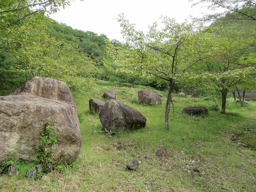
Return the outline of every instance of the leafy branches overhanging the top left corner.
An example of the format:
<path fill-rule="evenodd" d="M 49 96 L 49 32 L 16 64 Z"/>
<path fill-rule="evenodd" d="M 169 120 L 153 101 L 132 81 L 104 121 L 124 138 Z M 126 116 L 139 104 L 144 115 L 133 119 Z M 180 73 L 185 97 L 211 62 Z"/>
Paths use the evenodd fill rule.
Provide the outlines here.
<path fill-rule="evenodd" d="M 45 14 L 69 5 L 69 0 L 1 0 L 0 2 L 0 52 L 18 49 Z"/>

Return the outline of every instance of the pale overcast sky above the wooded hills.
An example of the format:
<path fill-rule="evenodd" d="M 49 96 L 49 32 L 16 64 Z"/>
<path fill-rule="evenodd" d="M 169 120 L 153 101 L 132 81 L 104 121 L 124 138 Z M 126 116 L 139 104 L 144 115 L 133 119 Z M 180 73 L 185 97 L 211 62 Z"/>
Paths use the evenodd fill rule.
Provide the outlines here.
<path fill-rule="evenodd" d="M 50 18 L 74 29 L 103 33 L 124 42 L 116 19 L 118 14 L 124 13 L 137 30 L 147 32 L 148 25 L 158 21 L 161 15 L 183 22 L 189 15 L 202 17 L 202 12 L 208 12 L 201 6 L 191 8 L 191 4 L 188 0 L 75 0 Z"/>

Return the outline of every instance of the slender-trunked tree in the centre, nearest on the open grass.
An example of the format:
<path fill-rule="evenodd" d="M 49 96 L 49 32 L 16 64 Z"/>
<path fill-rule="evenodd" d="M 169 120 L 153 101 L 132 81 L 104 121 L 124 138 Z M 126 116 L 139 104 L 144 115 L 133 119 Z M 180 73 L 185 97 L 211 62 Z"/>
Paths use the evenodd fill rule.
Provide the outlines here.
<path fill-rule="evenodd" d="M 157 23 L 149 28 L 148 34 L 136 31 L 134 24 L 119 15 L 121 33 L 126 42 L 138 54 L 138 69 L 144 77 L 155 79 L 159 83 L 169 83 L 168 96 L 165 106 L 165 127 L 169 129 L 170 103 L 174 114 L 174 103 L 172 100 L 173 84 L 200 60 L 210 57 L 210 51 L 201 46 L 206 39 L 202 36 L 201 26 L 197 23 L 177 23 L 174 19 L 162 17 L 164 25 L 158 30 Z"/>

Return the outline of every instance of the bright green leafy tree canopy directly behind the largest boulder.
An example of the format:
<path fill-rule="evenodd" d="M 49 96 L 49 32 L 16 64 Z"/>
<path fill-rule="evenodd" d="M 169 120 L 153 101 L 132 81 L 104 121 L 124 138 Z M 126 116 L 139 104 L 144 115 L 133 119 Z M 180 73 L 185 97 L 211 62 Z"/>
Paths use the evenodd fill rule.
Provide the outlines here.
<path fill-rule="evenodd" d="M 76 44 L 67 44 L 49 37 L 43 23 L 31 29 L 32 35 L 23 47 L 12 52 L 26 78 L 43 76 L 64 81 L 68 86 L 86 86 L 96 71 L 94 62 L 79 52 Z"/>

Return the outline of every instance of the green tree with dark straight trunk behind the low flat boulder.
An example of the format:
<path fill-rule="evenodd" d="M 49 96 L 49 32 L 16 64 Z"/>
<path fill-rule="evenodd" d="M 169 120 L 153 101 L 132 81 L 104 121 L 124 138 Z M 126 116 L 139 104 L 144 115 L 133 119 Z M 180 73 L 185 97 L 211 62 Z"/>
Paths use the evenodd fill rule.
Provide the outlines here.
<path fill-rule="evenodd" d="M 234 29 L 223 26 L 215 33 L 206 33 L 211 41 L 205 46 L 213 50 L 212 57 L 202 61 L 200 68 L 193 68 L 187 76 L 184 75 L 187 83 L 193 82 L 193 78 L 198 78 L 198 85 L 214 87 L 221 92 L 221 113 L 226 113 L 228 91 L 236 89 L 239 84 L 246 82 L 246 76 L 255 73 L 255 54 L 247 52 L 246 43 L 226 35 L 230 33 L 229 30 Z M 193 71 L 197 71 L 197 75 Z"/>

